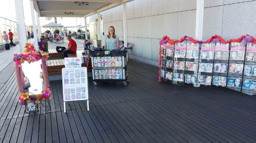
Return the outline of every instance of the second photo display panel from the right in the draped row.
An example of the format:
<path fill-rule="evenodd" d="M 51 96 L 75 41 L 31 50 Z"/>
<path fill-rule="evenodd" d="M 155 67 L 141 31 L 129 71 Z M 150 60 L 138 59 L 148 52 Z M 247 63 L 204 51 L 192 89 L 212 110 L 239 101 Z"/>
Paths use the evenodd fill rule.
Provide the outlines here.
<path fill-rule="evenodd" d="M 227 73 L 227 88 L 241 92 L 245 45 L 239 42 L 230 43 L 230 58 Z"/>

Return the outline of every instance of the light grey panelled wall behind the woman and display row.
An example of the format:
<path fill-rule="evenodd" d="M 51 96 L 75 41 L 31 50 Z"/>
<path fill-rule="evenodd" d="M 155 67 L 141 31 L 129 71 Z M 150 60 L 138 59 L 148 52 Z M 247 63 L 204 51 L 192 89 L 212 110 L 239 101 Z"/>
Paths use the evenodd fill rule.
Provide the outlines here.
<path fill-rule="evenodd" d="M 196 0 L 134 0 L 127 3 L 128 43 L 133 55 L 158 61 L 159 40 L 168 35 L 172 39 L 195 37 Z M 256 37 L 256 0 L 204 0 L 203 40 L 214 34 L 225 40 L 244 34 Z M 122 6 L 101 13 L 103 31 L 114 26 L 123 40 Z M 95 21 L 97 14 L 90 17 Z M 92 22 L 92 21 L 90 21 Z"/>

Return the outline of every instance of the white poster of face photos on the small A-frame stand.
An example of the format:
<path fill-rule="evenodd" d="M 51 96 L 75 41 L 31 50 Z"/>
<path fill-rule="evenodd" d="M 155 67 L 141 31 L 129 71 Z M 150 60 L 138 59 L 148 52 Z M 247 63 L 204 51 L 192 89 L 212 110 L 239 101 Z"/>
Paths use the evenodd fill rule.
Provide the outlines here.
<path fill-rule="evenodd" d="M 63 100 L 88 100 L 87 68 L 62 69 Z"/>

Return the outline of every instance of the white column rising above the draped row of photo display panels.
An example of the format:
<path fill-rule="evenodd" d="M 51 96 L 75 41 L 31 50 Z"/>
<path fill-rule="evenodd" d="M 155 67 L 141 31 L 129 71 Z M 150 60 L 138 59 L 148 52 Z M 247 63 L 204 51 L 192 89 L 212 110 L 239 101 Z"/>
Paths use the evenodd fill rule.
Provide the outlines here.
<path fill-rule="evenodd" d="M 196 1 L 195 39 L 203 40 L 204 0 Z"/>

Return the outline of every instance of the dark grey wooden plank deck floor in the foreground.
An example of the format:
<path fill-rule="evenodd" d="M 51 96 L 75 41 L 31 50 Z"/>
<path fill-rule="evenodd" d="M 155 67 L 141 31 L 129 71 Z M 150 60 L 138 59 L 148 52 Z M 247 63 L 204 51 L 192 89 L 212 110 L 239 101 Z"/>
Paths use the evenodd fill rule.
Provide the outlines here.
<path fill-rule="evenodd" d="M 256 143 L 256 98 L 239 92 L 158 83 L 158 69 L 128 61 L 130 83 L 89 79 L 86 101 L 67 103 L 51 82 L 50 113 L 24 114 L 15 74 L 0 89 L 3 143 Z"/>

